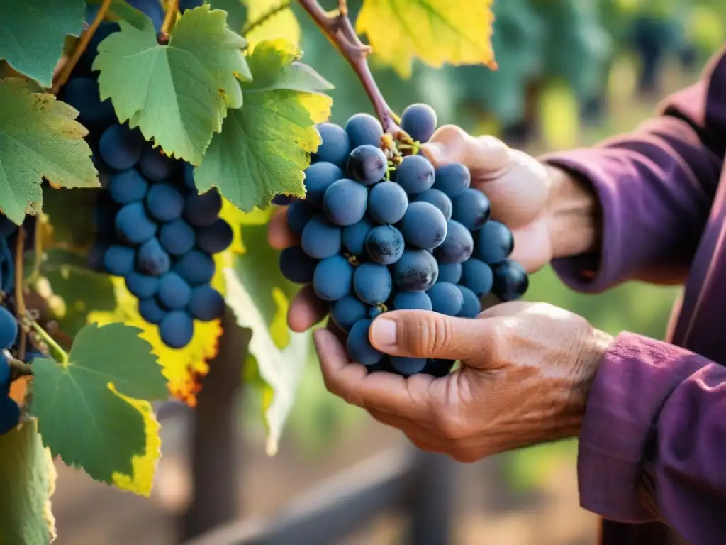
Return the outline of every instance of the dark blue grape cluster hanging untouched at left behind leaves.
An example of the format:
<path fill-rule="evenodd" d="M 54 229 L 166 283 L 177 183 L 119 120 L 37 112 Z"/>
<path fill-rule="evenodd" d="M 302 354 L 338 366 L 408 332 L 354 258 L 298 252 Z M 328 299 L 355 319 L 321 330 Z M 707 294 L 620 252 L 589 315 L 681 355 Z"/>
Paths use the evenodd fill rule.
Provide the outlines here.
<path fill-rule="evenodd" d="M 219 192 L 196 190 L 192 165 L 119 124 L 110 100 L 100 100 L 91 65 L 99 41 L 117 30 L 116 23 L 100 25 L 61 92 L 89 129 L 104 187 L 94 211 L 98 238 L 89 266 L 123 277 L 142 318 L 158 325 L 168 347 L 182 348 L 192 339 L 194 320 L 224 313 L 224 299 L 210 285 L 212 256 L 232 243 L 232 227 L 219 217 Z"/>

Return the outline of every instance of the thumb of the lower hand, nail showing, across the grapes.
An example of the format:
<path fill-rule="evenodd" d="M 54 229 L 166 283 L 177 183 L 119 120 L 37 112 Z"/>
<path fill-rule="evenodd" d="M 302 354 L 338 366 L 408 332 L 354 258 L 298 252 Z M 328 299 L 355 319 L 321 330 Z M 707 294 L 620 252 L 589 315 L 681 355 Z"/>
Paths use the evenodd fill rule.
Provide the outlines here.
<path fill-rule="evenodd" d="M 489 320 L 428 310 L 394 310 L 373 320 L 368 337 L 380 352 L 409 358 L 467 360 L 489 345 Z"/>

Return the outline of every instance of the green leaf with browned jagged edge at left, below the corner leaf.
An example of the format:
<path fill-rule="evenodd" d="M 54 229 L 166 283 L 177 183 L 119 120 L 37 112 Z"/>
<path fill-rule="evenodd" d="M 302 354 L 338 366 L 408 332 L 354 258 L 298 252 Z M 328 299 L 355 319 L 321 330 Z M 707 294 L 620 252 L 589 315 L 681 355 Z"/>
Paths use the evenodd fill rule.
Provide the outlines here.
<path fill-rule="evenodd" d="M 41 210 L 43 177 L 62 187 L 100 186 L 77 115 L 52 94 L 0 81 L 0 210 L 17 225 Z"/>

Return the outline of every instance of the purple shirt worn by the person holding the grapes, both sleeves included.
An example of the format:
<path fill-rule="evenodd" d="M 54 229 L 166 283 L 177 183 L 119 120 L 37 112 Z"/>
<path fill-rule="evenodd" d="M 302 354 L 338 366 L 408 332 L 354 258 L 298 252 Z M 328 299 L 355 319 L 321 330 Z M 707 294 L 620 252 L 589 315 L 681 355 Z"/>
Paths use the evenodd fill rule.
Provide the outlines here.
<path fill-rule="evenodd" d="M 657 118 L 594 148 L 543 158 L 590 182 L 603 209 L 600 255 L 552 264 L 568 286 L 599 292 L 687 277 L 669 342 L 622 333 L 601 361 L 578 474 L 585 509 L 664 522 L 693 545 L 726 544 L 725 150 L 722 52 Z M 662 531 L 628 535 L 605 531 L 603 545 L 666 543 Z"/>

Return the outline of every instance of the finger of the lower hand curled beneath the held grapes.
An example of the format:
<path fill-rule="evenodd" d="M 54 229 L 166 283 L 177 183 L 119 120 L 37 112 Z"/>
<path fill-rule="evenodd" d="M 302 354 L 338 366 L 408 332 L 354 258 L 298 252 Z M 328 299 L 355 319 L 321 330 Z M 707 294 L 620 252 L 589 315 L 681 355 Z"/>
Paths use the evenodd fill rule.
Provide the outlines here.
<path fill-rule="evenodd" d="M 433 376 L 409 379 L 392 373 L 369 374 L 364 366 L 348 361 L 343 344 L 326 329 L 314 334 L 325 386 L 351 405 L 368 411 L 425 421 L 431 413 L 428 395 Z"/>

